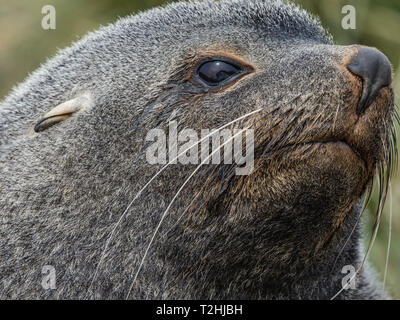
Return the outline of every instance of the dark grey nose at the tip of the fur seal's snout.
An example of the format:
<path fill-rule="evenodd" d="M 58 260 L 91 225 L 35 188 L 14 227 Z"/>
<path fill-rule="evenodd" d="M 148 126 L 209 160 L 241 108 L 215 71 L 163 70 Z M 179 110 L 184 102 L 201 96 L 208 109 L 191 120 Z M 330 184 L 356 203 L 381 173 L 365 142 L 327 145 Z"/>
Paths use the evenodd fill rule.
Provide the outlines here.
<path fill-rule="evenodd" d="M 390 62 L 382 52 L 361 47 L 347 65 L 347 69 L 362 79 L 363 90 L 358 102 L 357 113 L 363 114 L 379 91 L 392 83 Z"/>

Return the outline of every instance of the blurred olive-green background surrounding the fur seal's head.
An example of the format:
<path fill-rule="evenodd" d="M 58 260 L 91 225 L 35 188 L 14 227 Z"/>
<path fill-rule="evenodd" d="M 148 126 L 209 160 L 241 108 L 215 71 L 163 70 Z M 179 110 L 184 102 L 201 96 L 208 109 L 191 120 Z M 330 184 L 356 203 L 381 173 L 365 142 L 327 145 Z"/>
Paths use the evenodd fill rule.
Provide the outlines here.
<path fill-rule="evenodd" d="M 400 105 L 400 1 L 399 0 L 295 0 L 318 15 L 332 33 L 337 44 L 364 44 L 383 51 L 395 72 L 396 104 Z M 58 49 L 68 46 L 88 31 L 116 21 L 119 17 L 166 3 L 162 0 L 0 0 L 0 99 Z M 56 8 L 55 30 L 41 27 L 44 5 Z M 341 8 L 356 8 L 356 29 L 341 27 Z M 399 70 L 399 71 L 398 71 Z M 396 72 L 398 71 L 398 72 Z M 400 140 L 400 139 L 398 139 Z M 392 244 L 386 287 L 400 299 L 400 175 L 392 179 Z M 371 236 L 372 212 L 376 208 L 376 192 L 366 213 L 365 242 Z M 390 197 L 374 244 L 370 261 L 383 278 L 389 234 Z"/>

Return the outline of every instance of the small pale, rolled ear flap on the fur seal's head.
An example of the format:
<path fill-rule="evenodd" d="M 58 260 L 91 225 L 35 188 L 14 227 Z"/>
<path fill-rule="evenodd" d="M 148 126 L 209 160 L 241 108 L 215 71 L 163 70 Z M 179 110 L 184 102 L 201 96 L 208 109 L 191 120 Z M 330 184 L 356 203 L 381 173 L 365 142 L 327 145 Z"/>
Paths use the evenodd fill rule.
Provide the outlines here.
<path fill-rule="evenodd" d="M 92 104 L 90 94 L 85 93 L 74 99 L 68 100 L 57 105 L 46 113 L 38 122 L 36 122 L 33 130 L 40 132 L 47 128 L 59 123 L 63 120 L 70 118 L 74 113 L 89 107 Z"/>

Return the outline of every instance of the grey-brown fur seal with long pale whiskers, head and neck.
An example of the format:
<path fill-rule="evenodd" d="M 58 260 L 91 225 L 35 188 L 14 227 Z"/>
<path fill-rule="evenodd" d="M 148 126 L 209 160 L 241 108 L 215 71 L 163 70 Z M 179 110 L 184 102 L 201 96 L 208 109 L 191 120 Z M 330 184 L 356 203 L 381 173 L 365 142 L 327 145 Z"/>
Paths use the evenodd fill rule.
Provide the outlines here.
<path fill-rule="evenodd" d="M 363 261 L 376 172 L 384 200 L 391 77 L 281 1 L 180 2 L 89 34 L 0 104 L 0 297 L 388 297 L 367 265 L 348 290 L 341 271 Z M 149 164 L 146 134 L 171 121 L 252 128 L 254 170 Z"/>

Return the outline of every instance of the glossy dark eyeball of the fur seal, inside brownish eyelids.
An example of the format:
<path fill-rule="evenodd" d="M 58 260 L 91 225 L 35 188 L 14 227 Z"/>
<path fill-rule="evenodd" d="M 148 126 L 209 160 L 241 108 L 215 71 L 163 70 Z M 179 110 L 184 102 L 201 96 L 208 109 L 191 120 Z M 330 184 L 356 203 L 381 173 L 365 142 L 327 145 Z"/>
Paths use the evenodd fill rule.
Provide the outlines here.
<path fill-rule="evenodd" d="M 241 70 L 234 65 L 224 61 L 208 61 L 198 69 L 198 75 L 210 86 L 218 86 L 229 78 L 241 74 Z"/>

